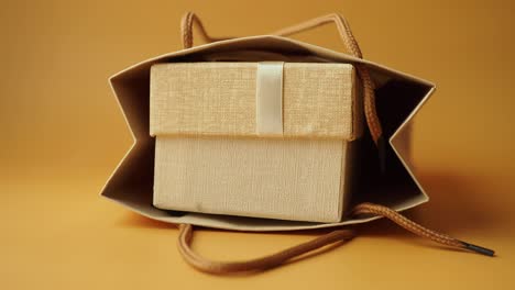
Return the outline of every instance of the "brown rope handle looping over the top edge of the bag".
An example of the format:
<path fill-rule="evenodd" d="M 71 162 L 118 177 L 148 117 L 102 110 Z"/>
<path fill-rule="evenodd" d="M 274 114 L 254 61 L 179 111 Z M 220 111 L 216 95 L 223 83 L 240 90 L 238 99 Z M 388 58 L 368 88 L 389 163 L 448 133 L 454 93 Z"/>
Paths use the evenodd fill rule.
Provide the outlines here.
<path fill-rule="evenodd" d="M 295 33 L 308 31 L 308 30 L 311 30 L 311 29 L 315 29 L 315 27 L 318 27 L 320 25 L 328 24 L 328 23 L 335 23 L 340 34 L 340 38 L 343 42 L 347 51 L 357 58 L 363 58 L 360 46 L 358 45 L 358 42 L 355 41 L 354 35 L 352 34 L 349 23 L 343 16 L 341 16 L 338 13 L 331 13 L 328 15 L 315 18 L 306 22 L 302 22 L 299 24 L 278 30 L 276 32 L 273 32 L 272 34 L 278 35 L 278 36 L 289 36 Z M 215 38 L 215 37 L 209 36 L 200 19 L 194 12 L 186 12 L 183 19 L 180 20 L 180 32 L 182 32 L 184 48 L 193 47 L 194 25 L 198 26 L 201 37 L 208 43 L 231 38 L 231 37 Z M 363 82 L 363 107 L 364 107 L 366 124 L 369 126 L 370 134 L 372 135 L 372 140 L 377 145 L 381 168 L 384 171 L 386 143 L 384 141 L 383 130 L 381 126 L 381 122 L 377 118 L 377 112 L 375 110 L 375 93 L 374 93 L 373 81 L 372 81 L 372 78 L 370 77 L 370 72 L 366 66 L 362 64 L 355 64 L 355 67 Z"/>

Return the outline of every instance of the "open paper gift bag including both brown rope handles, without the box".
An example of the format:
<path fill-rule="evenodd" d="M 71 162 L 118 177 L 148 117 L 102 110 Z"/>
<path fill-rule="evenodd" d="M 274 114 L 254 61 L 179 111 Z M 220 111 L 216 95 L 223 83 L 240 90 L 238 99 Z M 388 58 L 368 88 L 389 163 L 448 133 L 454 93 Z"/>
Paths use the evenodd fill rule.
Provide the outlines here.
<path fill-rule="evenodd" d="M 336 24 L 350 54 L 285 37 L 325 23 Z M 182 22 L 184 49 L 144 60 L 110 78 L 114 96 L 134 137 L 134 144 L 114 169 L 101 192 L 103 197 L 142 215 L 179 224 L 179 250 L 189 264 L 200 270 L 215 274 L 260 270 L 277 266 L 292 257 L 324 245 L 351 237 L 348 230 L 338 230 L 261 259 L 217 263 L 206 260 L 191 250 L 193 225 L 246 232 L 297 231 L 342 227 L 369 222 L 380 216 L 386 216 L 401 226 L 435 242 L 493 255 L 492 250 L 427 230 L 397 213 L 428 201 L 424 188 L 417 180 L 409 155 L 409 137 L 413 119 L 435 91 L 435 85 L 363 59 L 349 24 L 338 14 L 321 16 L 269 35 L 226 40 L 209 37 L 200 24 L 198 25 L 200 33 L 208 43 L 199 46 L 193 46 L 194 24 L 200 24 L 198 18 L 194 13 L 187 13 Z M 366 122 L 364 122 L 359 148 L 368 158 L 360 163 L 361 172 L 358 180 L 360 187 L 350 196 L 349 210 L 343 212 L 341 221 L 303 222 L 256 219 L 193 211 L 169 211 L 154 207 L 156 140 L 150 132 L 151 68 L 165 64 L 270 60 L 349 64 L 355 68 L 357 76 L 362 82 L 361 96 Z M 184 145 L 178 147 L 185 148 Z"/>

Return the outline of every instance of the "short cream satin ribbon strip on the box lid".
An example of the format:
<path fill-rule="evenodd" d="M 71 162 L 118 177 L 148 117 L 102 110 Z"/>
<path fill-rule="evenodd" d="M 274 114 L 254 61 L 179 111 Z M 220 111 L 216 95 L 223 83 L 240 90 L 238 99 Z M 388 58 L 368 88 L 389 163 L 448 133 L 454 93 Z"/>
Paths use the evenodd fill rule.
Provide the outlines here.
<path fill-rule="evenodd" d="M 283 62 L 258 63 L 255 131 L 258 135 L 283 135 Z"/>

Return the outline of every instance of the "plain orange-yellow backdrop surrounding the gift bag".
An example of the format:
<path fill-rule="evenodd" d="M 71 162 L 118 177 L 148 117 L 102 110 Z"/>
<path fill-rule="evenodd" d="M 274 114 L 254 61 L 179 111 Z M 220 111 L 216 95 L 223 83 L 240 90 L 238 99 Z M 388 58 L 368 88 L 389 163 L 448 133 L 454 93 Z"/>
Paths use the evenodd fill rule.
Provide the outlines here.
<path fill-rule="evenodd" d="M 513 289 L 514 9 L 512 1 L 3 1 L 0 288 Z M 435 81 L 414 140 L 431 201 L 408 215 L 498 256 L 445 250 L 379 221 L 322 255 L 215 277 L 183 263 L 173 225 L 101 199 L 132 142 L 107 78 L 178 49 L 187 10 L 212 35 L 264 34 L 340 12 L 366 58 Z M 342 48 L 330 26 L 299 38 Z M 320 233 L 201 230 L 195 247 L 248 258 Z"/>

